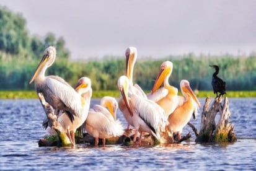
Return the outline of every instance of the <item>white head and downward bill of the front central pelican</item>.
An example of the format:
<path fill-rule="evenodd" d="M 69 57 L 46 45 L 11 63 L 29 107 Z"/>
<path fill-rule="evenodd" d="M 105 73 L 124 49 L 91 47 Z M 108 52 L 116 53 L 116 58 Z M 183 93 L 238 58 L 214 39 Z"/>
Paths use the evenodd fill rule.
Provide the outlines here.
<path fill-rule="evenodd" d="M 130 81 L 129 81 L 128 77 L 126 77 L 126 76 L 119 77 L 117 85 L 118 85 L 120 94 L 122 95 L 123 100 L 125 101 L 125 105 L 126 105 L 127 109 L 129 110 L 131 116 L 133 116 L 133 111 L 131 110 L 129 97 L 128 97 L 128 88 L 130 86 Z"/>

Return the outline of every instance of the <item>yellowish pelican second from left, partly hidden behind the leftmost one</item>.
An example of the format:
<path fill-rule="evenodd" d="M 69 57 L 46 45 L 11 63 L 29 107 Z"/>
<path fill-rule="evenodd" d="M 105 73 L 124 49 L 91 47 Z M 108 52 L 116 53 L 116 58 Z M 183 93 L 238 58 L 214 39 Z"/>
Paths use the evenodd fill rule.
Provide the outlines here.
<path fill-rule="evenodd" d="M 84 121 L 86 121 L 89 107 L 90 107 L 90 98 L 92 97 L 92 88 L 91 81 L 88 77 L 81 77 L 74 87 L 77 94 L 81 95 L 80 101 L 82 103 L 81 113 L 82 115 L 75 115 L 74 120 L 71 121 L 66 112 L 61 113 L 58 116 L 58 123 L 62 126 L 60 131 L 66 133 L 70 142 L 75 146 L 74 133 L 76 133 L 76 129 L 81 126 Z M 55 133 L 55 131 L 48 130 L 48 133 Z"/>

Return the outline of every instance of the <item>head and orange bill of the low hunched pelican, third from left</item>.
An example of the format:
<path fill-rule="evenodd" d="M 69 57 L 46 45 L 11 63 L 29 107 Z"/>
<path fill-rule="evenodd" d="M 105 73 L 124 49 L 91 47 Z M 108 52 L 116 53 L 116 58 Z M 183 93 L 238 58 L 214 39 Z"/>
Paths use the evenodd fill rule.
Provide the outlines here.
<path fill-rule="evenodd" d="M 116 120 L 118 103 L 117 103 L 117 100 L 115 100 L 115 98 L 110 96 L 105 96 L 100 100 L 100 105 L 103 107 L 107 107 L 109 112 L 113 116 L 114 120 Z"/>

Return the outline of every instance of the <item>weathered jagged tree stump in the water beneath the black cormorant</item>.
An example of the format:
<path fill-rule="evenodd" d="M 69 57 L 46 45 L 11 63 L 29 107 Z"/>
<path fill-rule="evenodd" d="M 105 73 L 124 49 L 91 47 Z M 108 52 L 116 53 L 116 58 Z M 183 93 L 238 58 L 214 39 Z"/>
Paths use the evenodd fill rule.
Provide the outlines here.
<path fill-rule="evenodd" d="M 196 136 L 197 143 L 231 143 L 236 141 L 234 125 L 229 123 L 229 101 L 222 97 L 214 99 L 209 108 L 210 98 L 206 98 L 203 112 L 201 114 L 200 132 Z M 215 117 L 219 113 L 219 121 L 215 123 Z"/>

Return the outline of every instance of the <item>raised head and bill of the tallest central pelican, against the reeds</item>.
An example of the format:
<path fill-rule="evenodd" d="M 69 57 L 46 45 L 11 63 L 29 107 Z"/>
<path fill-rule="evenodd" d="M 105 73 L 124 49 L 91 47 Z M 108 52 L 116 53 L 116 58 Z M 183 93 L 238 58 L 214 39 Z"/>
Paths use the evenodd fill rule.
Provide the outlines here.
<path fill-rule="evenodd" d="M 128 79 L 133 82 L 133 68 L 137 59 L 137 49 L 133 46 L 130 46 L 125 51 L 126 56 L 126 76 Z"/>

